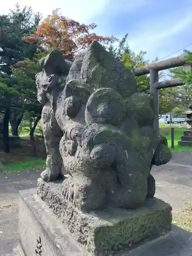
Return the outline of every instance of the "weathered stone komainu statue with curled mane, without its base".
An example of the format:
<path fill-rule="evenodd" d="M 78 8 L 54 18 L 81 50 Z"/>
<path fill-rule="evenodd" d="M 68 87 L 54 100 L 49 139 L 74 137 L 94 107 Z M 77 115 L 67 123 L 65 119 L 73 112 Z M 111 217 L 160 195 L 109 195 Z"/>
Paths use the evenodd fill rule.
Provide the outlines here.
<path fill-rule="evenodd" d="M 132 72 L 93 42 L 74 62 L 53 50 L 36 75 L 47 149 L 44 181 L 62 177 L 62 195 L 83 211 L 137 208 L 155 194 L 153 165 L 170 160 L 153 128 L 154 101 Z"/>

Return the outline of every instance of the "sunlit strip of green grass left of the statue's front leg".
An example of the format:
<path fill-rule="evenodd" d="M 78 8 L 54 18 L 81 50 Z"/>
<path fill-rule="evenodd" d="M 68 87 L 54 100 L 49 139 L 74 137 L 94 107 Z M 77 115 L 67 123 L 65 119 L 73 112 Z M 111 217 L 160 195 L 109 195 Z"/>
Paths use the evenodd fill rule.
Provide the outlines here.
<path fill-rule="evenodd" d="M 20 172 L 22 170 L 38 170 L 45 167 L 45 160 L 30 158 L 29 160 L 11 162 L 5 165 L 5 169 L 2 172 L 13 173 Z"/>

